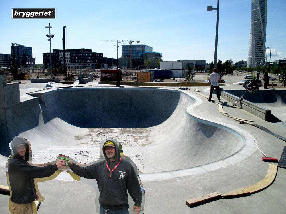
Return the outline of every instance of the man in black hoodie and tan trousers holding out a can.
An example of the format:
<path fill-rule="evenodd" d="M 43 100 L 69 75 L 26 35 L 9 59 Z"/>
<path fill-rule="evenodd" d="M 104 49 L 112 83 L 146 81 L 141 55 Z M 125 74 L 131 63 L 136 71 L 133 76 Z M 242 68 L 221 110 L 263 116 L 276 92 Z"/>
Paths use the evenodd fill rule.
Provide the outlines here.
<path fill-rule="evenodd" d="M 16 136 L 12 142 L 13 158 L 9 162 L 8 175 L 12 195 L 12 213 L 32 214 L 33 203 L 39 199 L 36 192 L 34 178 L 49 177 L 60 167 L 65 166 L 65 161 L 60 160 L 56 164 L 45 167 L 29 165 L 29 144 L 27 139 Z"/>

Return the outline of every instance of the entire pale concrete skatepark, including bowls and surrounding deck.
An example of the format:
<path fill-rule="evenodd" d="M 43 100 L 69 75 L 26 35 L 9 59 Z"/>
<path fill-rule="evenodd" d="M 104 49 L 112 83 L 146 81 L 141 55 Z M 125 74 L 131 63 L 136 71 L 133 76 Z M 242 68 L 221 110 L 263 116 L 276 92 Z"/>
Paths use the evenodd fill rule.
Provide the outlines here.
<path fill-rule="evenodd" d="M 245 100 L 271 109 L 279 118 L 278 122 L 267 122 L 243 108 L 231 107 L 233 103 L 228 100 L 222 98 L 219 102 L 215 94 L 215 103 L 208 102 L 204 97 L 208 96 L 208 86 L 180 90 L 176 86 L 116 88 L 98 82 L 70 87 L 55 84 L 53 88 L 35 84 L 1 85 L 5 91 L 1 106 L 5 113 L 2 111 L 1 117 L 6 124 L 6 130 L 1 127 L 3 155 L 9 156 L 9 139 L 21 135 L 31 143 L 33 163 L 46 163 L 65 154 L 86 164 L 99 159 L 98 145 L 111 137 L 122 144 L 123 153 L 137 165 L 146 191 L 145 214 L 283 213 L 286 208 L 283 168 L 278 168 L 277 177 L 268 188 L 257 193 L 192 208 L 186 205 L 188 199 L 213 192 L 227 193 L 265 177 L 269 163 L 261 161 L 263 155 L 253 140 L 267 156 L 278 159 L 285 141 L 254 126 L 239 124 L 218 108 L 286 137 L 283 90 L 279 94 L 284 96 L 276 96 L 274 89 L 260 87 L 256 100 L 245 95 Z M 228 82 L 222 88 L 235 96 L 243 93 L 241 87 Z M 7 185 L 6 161 L 1 156 L 1 185 Z M 98 206 L 96 189 L 61 174 L 39 183 L 45 202 L 38 213 L 94 213 Z M 58 196 L 60 201 L 56 200 Z M 4 205 L 1 213 L 9 213 L 8 199 L 0 195 Z"/>

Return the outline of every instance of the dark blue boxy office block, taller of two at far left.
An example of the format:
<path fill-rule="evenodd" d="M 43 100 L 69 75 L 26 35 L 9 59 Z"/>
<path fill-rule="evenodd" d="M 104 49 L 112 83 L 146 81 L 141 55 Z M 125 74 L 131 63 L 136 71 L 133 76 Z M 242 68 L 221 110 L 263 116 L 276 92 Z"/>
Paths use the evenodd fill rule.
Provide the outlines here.
<path fill-rule="evenodd" d="M 15 53 L 15 65 L 18 67 L 31 67 L 33 65 L 32 47 L 24 45 L 11 45 L 11 58 L 13 58 L 13 47 Z"/>

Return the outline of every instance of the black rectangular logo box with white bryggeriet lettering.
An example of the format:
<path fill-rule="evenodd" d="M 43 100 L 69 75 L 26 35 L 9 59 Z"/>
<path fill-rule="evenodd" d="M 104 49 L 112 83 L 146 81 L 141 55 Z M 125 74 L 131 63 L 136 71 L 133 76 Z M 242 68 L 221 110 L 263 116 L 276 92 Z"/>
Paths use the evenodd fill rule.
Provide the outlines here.
<path fill-rule="evenodd" d="M 12 8 L 12 19 L 55 19 L 55 8 Z"/>

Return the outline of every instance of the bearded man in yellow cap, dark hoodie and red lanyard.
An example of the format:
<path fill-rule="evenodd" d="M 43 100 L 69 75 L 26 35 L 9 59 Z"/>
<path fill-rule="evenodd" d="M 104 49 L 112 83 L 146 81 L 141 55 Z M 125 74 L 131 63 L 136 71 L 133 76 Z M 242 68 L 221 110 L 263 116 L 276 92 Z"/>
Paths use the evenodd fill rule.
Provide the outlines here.
<path fill-rule="evenodd" d="M 104 161 L 87 167 L 69 161 L 70 169 L 77 175 L 96 179 L 99 195 L 100 214 L 128 214 L 127 190 L 134 201 L 133 211 L 141 210 L 142 192 L 131 163 L 120 158 L 118 145 L 108 140 L 103 144 Z"/>

